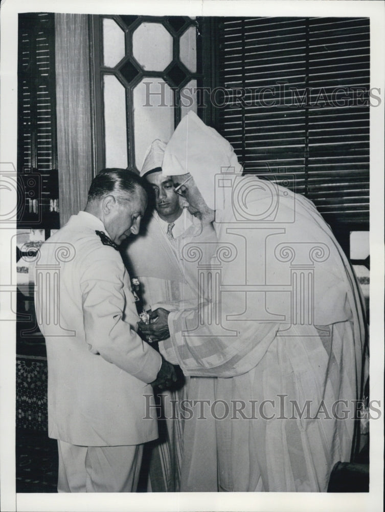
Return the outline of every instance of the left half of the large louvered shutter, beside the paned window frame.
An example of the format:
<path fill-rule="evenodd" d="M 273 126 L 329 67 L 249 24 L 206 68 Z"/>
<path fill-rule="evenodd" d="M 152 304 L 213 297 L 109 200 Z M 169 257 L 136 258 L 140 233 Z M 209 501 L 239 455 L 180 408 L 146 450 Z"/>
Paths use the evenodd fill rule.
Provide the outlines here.
<path fill-rule="evenodd" d="M 245 172 L 285 168 L 304 191 L 306 112 L 285 108 L 283 93 L 305 87 L 305 20 L 225 19 L 219 44 L 220 86 L 244 91 L 220 109 L 219 130 Z"/>

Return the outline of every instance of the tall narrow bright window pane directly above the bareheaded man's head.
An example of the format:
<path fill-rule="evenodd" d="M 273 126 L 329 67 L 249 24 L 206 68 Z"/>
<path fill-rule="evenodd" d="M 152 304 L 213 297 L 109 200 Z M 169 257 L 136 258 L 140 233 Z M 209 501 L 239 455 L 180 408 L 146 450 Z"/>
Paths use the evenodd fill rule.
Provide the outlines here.
<path fill-rule="evenodd" d="M 104 75 L 106 167 L 127 167 L 126 90 L 114 75 Z"/>

